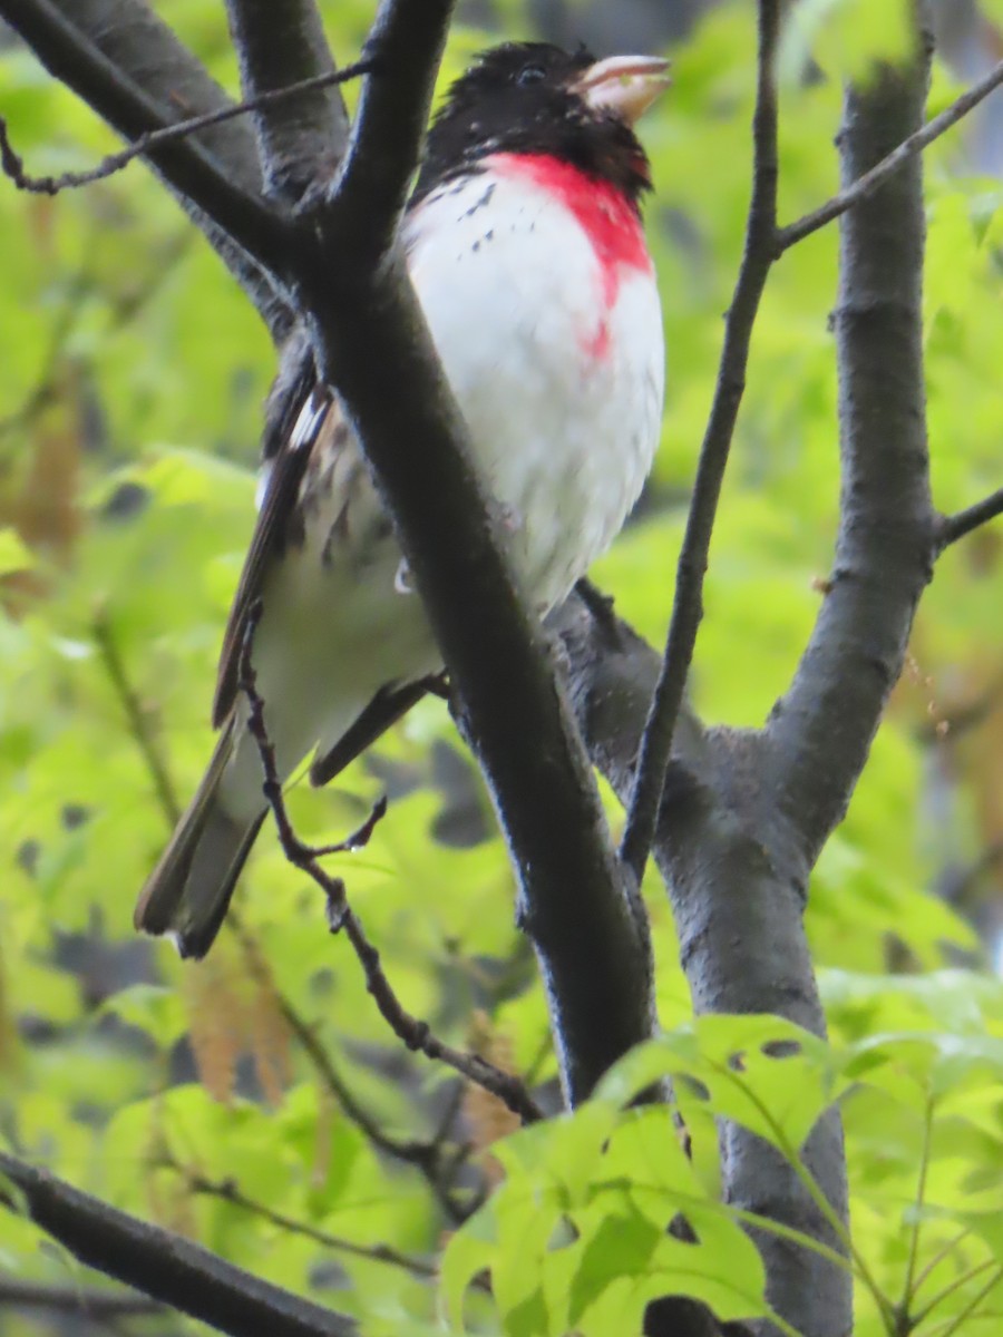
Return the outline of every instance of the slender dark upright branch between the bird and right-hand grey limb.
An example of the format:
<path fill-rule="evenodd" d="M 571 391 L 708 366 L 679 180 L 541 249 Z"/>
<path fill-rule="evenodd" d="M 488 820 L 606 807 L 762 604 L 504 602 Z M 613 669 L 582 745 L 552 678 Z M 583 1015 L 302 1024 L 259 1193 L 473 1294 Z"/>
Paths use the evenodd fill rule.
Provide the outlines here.
<path fill-rule="evenodd" d="M 749 345 L 766 275 L 776 255 L 777 90 L 776 49 L 780 0 L 760 3 L 758 78 L 753 112 L 753 186 L 745 230 L 745 254 L 725 318 L 714 401 L 697 464 L 686 532 L 675 578 L 675 598 L 662 671 L 641 739 L 634 790 L 621 842 L 621 858 L 641 881 L 662 801 L 673 734 L 682 709 L 697 631 L 703 616 L 707 568 L 721 484 L 745 390 Z"/>

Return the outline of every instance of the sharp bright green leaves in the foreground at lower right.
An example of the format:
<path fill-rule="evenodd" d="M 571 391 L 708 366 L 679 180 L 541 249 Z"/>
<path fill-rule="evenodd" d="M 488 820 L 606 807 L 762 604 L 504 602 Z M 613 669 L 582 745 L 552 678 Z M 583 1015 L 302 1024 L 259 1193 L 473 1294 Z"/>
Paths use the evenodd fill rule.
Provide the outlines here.
<path fill-rule="evenodd" d="M 877 1034 L 829 1047 L 777 1017 L 702 1017 L 630 1054 L 575 1114 L 511 1136 L 499 1150 L 504 1185 L 445 1251 L 451 1330 L 468 1330 L 467 1288 L 489 1270 L 506 1337 L 639 1332 L 646 1302 L 663 1294 L 703 1300 L 721 1318 L 770 1314 L 793 1333 L 770 1313 L 742 1230 L 758 1218 L 722 1203 L 701 1166 L 726 1118 L 776 1147 L 818 1199 L 801 1150 L 833 1102 L 853 1189 L 853 1239 L 840 1235 L 857 1282 L 855 1332 L 992 1330 L 1003 1317 L 1003 989 L 982 981 L 984 1007 L 955 1009 L 959 1029 L 947 1035 L 933 1013 L 944 997 L 962 1001 L 958 977 L 832 984 L 834 1029 L 864 1004 Z M 884 1031 L 885 1016 L 916 1028 Z M 691 1157 L 663 1106 L 629 1106 L 666 1076 Z M 695 1238 L 677 1238 L 682 1217 Z"/>

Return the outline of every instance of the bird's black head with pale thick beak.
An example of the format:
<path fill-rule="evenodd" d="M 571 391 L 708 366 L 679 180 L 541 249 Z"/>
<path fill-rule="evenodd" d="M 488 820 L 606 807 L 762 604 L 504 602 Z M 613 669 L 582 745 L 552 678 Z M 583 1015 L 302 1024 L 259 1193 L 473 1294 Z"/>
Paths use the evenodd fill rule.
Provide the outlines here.
<path fill-rule="evenodd" d="M 488 154 L 552 154 L 612 182 L 633 201 L 650 187 L 634 120 L 666 86 L 665 62 L 596 62 L 542 41 L 483 52 L 449 90 L 428 132 L 415 199 Z"/>

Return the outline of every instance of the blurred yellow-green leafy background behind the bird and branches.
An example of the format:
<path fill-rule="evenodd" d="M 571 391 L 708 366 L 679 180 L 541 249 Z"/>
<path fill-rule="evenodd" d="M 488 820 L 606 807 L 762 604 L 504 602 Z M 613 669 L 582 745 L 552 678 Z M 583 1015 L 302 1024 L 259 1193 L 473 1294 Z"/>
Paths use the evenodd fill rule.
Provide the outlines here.
<path fill-rule="evenodd" d="M 154 8 L 235 92 L 222 7 Z M 369 0 L 321 8 L 338 59 L 350 60 Z M 674 88 L 642 127 L 669 358 L 662 448 L 637 516 L 592 572 L 658 644 L 741 254 L 753 11 L 737 0 L 469 0 L 443 75 L 502 36 L 673 57 Z M 998 0 L 943 0 L 935 16 L 931 114 L 1003 55 Z M 891 3 L 792 8 L 782 221 L 839 186 L 841 80 L 901 41 Z M 35 174 L 84 170 L 116 147 L 3 25 L 0 112 Z M 927 155 L 924 333 L 943 511 L 1003 481 L 1002 174 L 998 92 Z M 710 723 L 762 722 L 829 571 L 834 293 L 829 227 L 776 267 L 757 324 L 691 682 Z M 429 1309 L 412 1271 L 320 1249 L 206 1183 L 230 1178 L 314 1230 L 421 1253 L 443 1229 L 441 1203 L 345 1112 L 338 1083 L 386 1135 L 448 1128 L 468 1143 L 451 1187 L 467 1206 L 489 1182 L 483 1152 L 504 1116 L 400 1054 L 270 832 L 238 898 L 239 927 L 207 963 L 182 967 L 131 929 L 135 894 L 210 747 L 273 369 L 250 306 L 142 164 L 55 199 L 0 180 L 0 1143 L 263 1275 L 337 1292 L 338 1308 L 366 1296 L 372 1330 L 385 1321 L 400 1332 L 401 1316 L 417 1325 Z M 297 783 L 292 810 L 301 834 L 334 840 L 382 792 L 392 804 L 376 840 L 333 866 L 391 979 L 440 1034 L 546 1094 L 556 1070 L 535 964 L 512 925 L 489 804 L 441 703 L 423 703 L 330 792 Z M 610 820 L 621 822 L 614 801 Z M 646 894 L 671 1027 L 689 1016 L 689 996 L 654 874 Z M 891 1025 L 1003 1034 L 999 523 L 937 566 L 907 674 L 813 877 L 808 928 L 836 1039 Z M 893 1259 L 880 1213 L 861 1207 L 857 1219 L 875 1266 Z M 20 1293 L 15 1304 L 13 1278 L 47 1302 Z M 191 1326 L 114 1306 L 94 1321 L 72 1302 L 60 1310 L 56 1290 L 84 1285 L 94 1278 L 0 1214 L 3 1337 Z"/>

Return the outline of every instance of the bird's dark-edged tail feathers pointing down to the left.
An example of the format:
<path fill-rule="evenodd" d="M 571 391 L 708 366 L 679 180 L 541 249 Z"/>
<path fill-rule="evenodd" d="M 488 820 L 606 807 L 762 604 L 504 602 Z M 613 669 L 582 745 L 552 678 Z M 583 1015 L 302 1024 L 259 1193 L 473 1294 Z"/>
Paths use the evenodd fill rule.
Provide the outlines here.
<path fill-rule="evenodd" d="M 231 718 L 132 916 L 143 933 L 171 937 L 182 956 L 202 957 L 213 945 L 267 812 L 238 818 L 223 808 L 219 782 L 233 747 Z"/>

